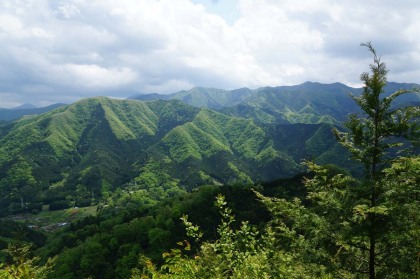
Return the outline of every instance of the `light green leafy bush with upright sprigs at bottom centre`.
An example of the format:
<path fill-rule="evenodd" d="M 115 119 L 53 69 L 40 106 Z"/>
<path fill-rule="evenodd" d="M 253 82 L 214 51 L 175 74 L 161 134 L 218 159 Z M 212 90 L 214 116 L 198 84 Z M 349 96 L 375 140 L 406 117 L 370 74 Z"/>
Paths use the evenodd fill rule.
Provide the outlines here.
<path fill-rule="evenodd" d="M 191 250 L 190 243 L 179 242 L 182 250 L 172 249 L 163 254 L 162 271 L 141 258 L 145 269 L 134 269 L 132 278 L 312 278 L 309 266 L 300 265 L 295 254 L 275 249 L 276 239 L 270 227 L 260 232 L 242 222 L 234 229 L 235 217 L 223 196 L 216 198 L 216 206 L 221 215 L 217 240 L 202 243 L 194 257 L 185 254 Z M 199 227 L 189 222 L 187 216 L 181 219 L 187 235 L 199 241 L 202 237 Z"/>

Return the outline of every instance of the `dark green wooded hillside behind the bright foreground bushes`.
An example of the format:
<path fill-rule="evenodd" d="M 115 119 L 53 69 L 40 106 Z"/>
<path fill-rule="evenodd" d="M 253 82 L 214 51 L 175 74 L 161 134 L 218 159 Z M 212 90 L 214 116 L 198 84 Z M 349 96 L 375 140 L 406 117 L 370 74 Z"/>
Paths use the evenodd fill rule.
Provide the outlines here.
<path fill-rule="evenodd" d="M 232 200 L 237 220 L 246 218 L 258 226 L 267 221 L 266 210 L 254 202 L 253 193 L 239 185 L 202 186 L 191 193 L 163 188 L 167 193 L 159 200 L 154 200 L 154 190 L 150 190 L 148 194 L 135 185 L 119 190 L 103 198 L 96 217 L 78 220 L 52 234 L 39 250 L 44 261 L 57 255 L 50 277 L 128 278 L 132 268 L 144 267 L 138 262 L 139 255 L 161 264 L 162 253 L 183 240 L 180 218 L 185 214 L 200 224 L 204 240 L 213 239 L 218 219 L 213 201 L 218 193 Z M 91 256 L 84 256 L 85 253 Z M 82 259 L 84 270 L 80 268 Z"/>

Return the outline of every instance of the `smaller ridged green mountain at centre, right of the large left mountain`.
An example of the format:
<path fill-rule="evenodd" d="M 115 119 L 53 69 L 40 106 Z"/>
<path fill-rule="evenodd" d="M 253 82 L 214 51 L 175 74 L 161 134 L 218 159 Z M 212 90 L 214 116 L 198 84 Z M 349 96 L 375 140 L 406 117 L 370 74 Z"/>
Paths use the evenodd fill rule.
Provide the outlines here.
<path fill-rule="evenodd" d="M 211 110 L 202 110 L 193 121 L 173 129 L 153 150 L 175 163 L 185 183 L 199 183 L 197 173 L 221 183 L 251 183 L 300 169 L 274 149 L 269 135 L 252 120 Z"/>

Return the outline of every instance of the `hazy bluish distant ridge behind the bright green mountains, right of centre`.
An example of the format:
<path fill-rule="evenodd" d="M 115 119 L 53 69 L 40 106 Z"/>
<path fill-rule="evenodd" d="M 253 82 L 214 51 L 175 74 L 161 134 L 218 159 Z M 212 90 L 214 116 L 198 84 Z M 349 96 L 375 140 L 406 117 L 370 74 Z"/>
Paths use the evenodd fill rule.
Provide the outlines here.
<path fill-rule="evenodd" d="M 388 94 L 399 89 L 410 89 L 416 84 L 388 83 Z M 133 97 L 138 100 L 179 99 L 196 107 L 221 110 L 233 116 L 252 118 L 262 123 L 331 123 L 338 124 L 358 107 L 349 94 L 358 95 L 361 88 L 341 83 L 321 84 L 305 82 L 294 86 L 248 88 L 232 91 L 196 87 L 169 95 L 146 94 Z M 419 94 L 407 94 L 396 104 L 417 104 Z"/>

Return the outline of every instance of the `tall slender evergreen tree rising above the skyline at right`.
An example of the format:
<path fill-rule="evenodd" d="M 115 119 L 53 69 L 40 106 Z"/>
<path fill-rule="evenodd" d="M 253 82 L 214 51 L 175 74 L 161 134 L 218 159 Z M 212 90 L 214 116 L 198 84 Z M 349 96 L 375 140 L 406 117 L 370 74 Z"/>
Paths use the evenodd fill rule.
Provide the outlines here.
<path fill-rule="evenodd" d="M 384 214 L 381 202 L 384 187 L 381 176 L 382 170 L 389 165 L 390 149 L 403 145 L 402 137 L 418 140 L 420 129 L 415 118 L 419 117 L 418 107 L 393 108 L 392 101 L 398 96 L 410 92 L 399 90 L 388 97 L 382 97 L 387 83 L 385 63 L 377 56 L 371 43 L 363 43 L 373 54 L 373 64 L 370 65 L 371 73 L 364 72 L 361 80 L 364 82 L 361 96 L 352 96 L 362 109 L 364 115 L 351 115 L 345 126 L 348 132 L 335 134 L 353 155 L 360 161 L 365 170 L 366 177 L 361 184 L 363 188 L 358 199 L 367 199 L 363 203 L 366 206 L 366 229 L 369 238 L 369 277 L 375 278 L 378 264 L 378 241 L 385 233 L 383 231 Z M 380 248 L 379 248 L 380 249 Z"/>

